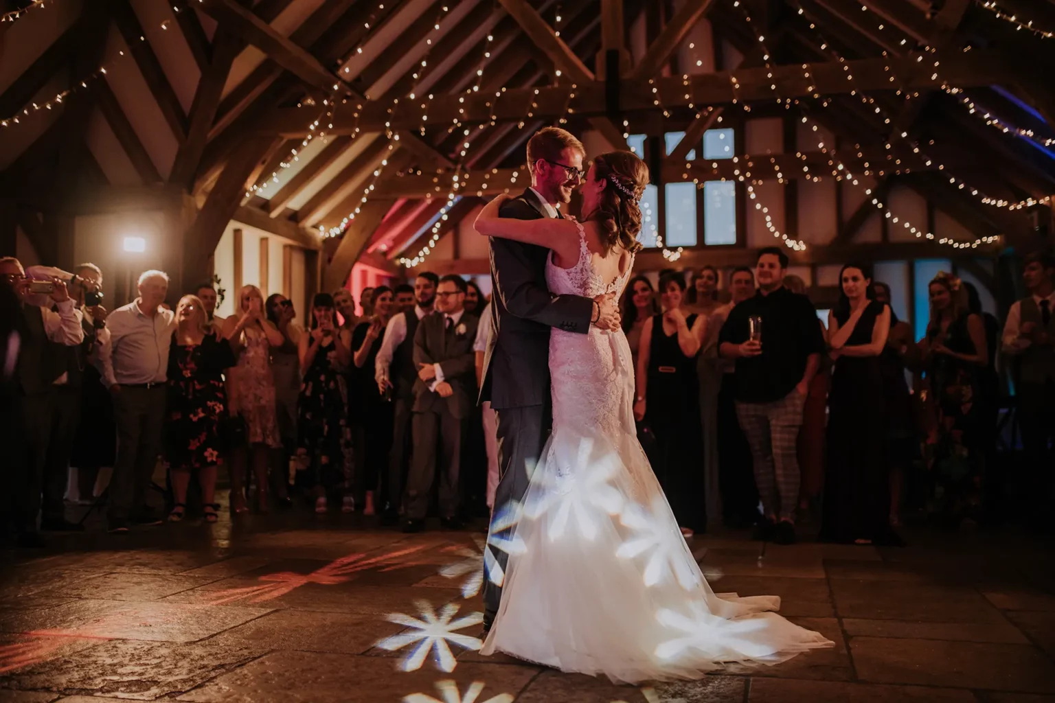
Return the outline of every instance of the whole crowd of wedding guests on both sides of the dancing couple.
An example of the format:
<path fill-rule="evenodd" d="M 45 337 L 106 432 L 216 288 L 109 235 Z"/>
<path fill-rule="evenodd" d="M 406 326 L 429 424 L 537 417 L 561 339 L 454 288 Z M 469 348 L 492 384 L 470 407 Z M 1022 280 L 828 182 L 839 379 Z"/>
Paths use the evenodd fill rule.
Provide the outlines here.
<path fill-rule="evenodd" d="M 787 267 L 765 249 L 754 267 L 665 271 L 657 288 L 641 275 L 625 292 L 638 436 L 686 536 L 724 523 L 790 544 L 812 520 L 822 540 L 901 544 L 909 512 L 982 521 L 1011 490 L 1031 527 L 1052 524 L 1055 259 L 1024 259 L 1029 294 L 1002 329 L 970 284 L 939 274 L 919 340 L 867 263 L 842 268 L 824 321 Z M 112 312 L 101 289 L 92 263 L 0 259 L 3 509 L 19 544 L 81 529 L 68 489 L 98 494 L 112 532 L 215 522 L 220 468 L 232 515 L 303 501 L 416 532 L 430 514 L 457 529 L 494 507 L 495 417 L 477 406 L 492 320 L 472 281 L 421 273 L 359 306 L 320 293 L 303 320 L 255 286 L 226 319 L 212 284 L 170 309 L 168 276 L 147 271 Z M 996 452 L 1009 406 L 1017 464 Z"/>

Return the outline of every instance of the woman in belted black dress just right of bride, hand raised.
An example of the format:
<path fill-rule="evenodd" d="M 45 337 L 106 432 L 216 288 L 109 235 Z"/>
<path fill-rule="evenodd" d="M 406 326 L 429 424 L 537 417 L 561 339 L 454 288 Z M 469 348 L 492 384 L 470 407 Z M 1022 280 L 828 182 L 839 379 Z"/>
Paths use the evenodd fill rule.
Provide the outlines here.
<path fill-rule="evenodd" d="M 655 435 L 649 460 L 682 533 L 707 529 L 704 495 L 704 446 L 701 436 L 696 357 L 707 319 L 682 309 L 685 279 L 676 273 L 659 279 L 663 314 L 645 323 L 637 354 L 634 417 Z"/>

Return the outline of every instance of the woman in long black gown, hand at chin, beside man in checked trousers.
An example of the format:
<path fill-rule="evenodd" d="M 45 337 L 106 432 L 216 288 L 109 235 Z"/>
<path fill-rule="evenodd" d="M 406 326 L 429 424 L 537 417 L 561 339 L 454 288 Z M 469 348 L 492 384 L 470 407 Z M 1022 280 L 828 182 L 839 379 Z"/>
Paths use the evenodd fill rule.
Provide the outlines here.
<path fill-rule="evenodd" d="M 901 544 L 889 524 L 886 402 L 880 355 L 890 309 L 876 301 L 871 270 L 847 263 L 839 302 L 828 314 L 836 366 L 828 392 L 828 461 L 820 540 Z"/>

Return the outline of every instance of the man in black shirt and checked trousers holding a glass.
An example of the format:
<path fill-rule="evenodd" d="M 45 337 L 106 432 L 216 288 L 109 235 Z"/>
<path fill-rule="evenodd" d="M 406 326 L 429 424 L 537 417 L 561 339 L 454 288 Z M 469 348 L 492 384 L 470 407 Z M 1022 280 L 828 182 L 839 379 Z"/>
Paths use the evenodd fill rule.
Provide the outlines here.
<path fill-rule="evenodd" d="M 718 352 L 736 362 L 736 415 L 751 445 L 765 511 L 757 536 L 779 544 L 794 542 L 797 441 L 803 404 L 825 350 L 809 298 L 784 288 L 787 266 L 787 255 L 776 247 L 759 252 L 759 292 L 732 309 L 718 336 Z M 754 338 L 751 318 L 761 325 Z"/>

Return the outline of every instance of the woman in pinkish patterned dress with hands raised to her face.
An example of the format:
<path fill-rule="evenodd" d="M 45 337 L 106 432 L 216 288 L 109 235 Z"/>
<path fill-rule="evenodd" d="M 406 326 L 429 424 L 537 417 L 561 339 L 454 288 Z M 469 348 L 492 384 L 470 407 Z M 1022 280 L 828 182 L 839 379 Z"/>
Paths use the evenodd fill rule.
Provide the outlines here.
<path fill-rule="evenodd" d="M 255 286 L 238 291 L 238 312 L 224 320 L 224 336 L 238 359 L 227 374 L 231 414 L 239 418 L 232 431 L 231 510 L 246 512 L 246 465 L 252 457 L 256 479 L 256 505 L 266 512 L 267 468 L 272 450 L 282 448 L 275 411 L 274 375 L 271 349 L 281 347 L 286 337 L 268 321 L 264 295 Z"/>

